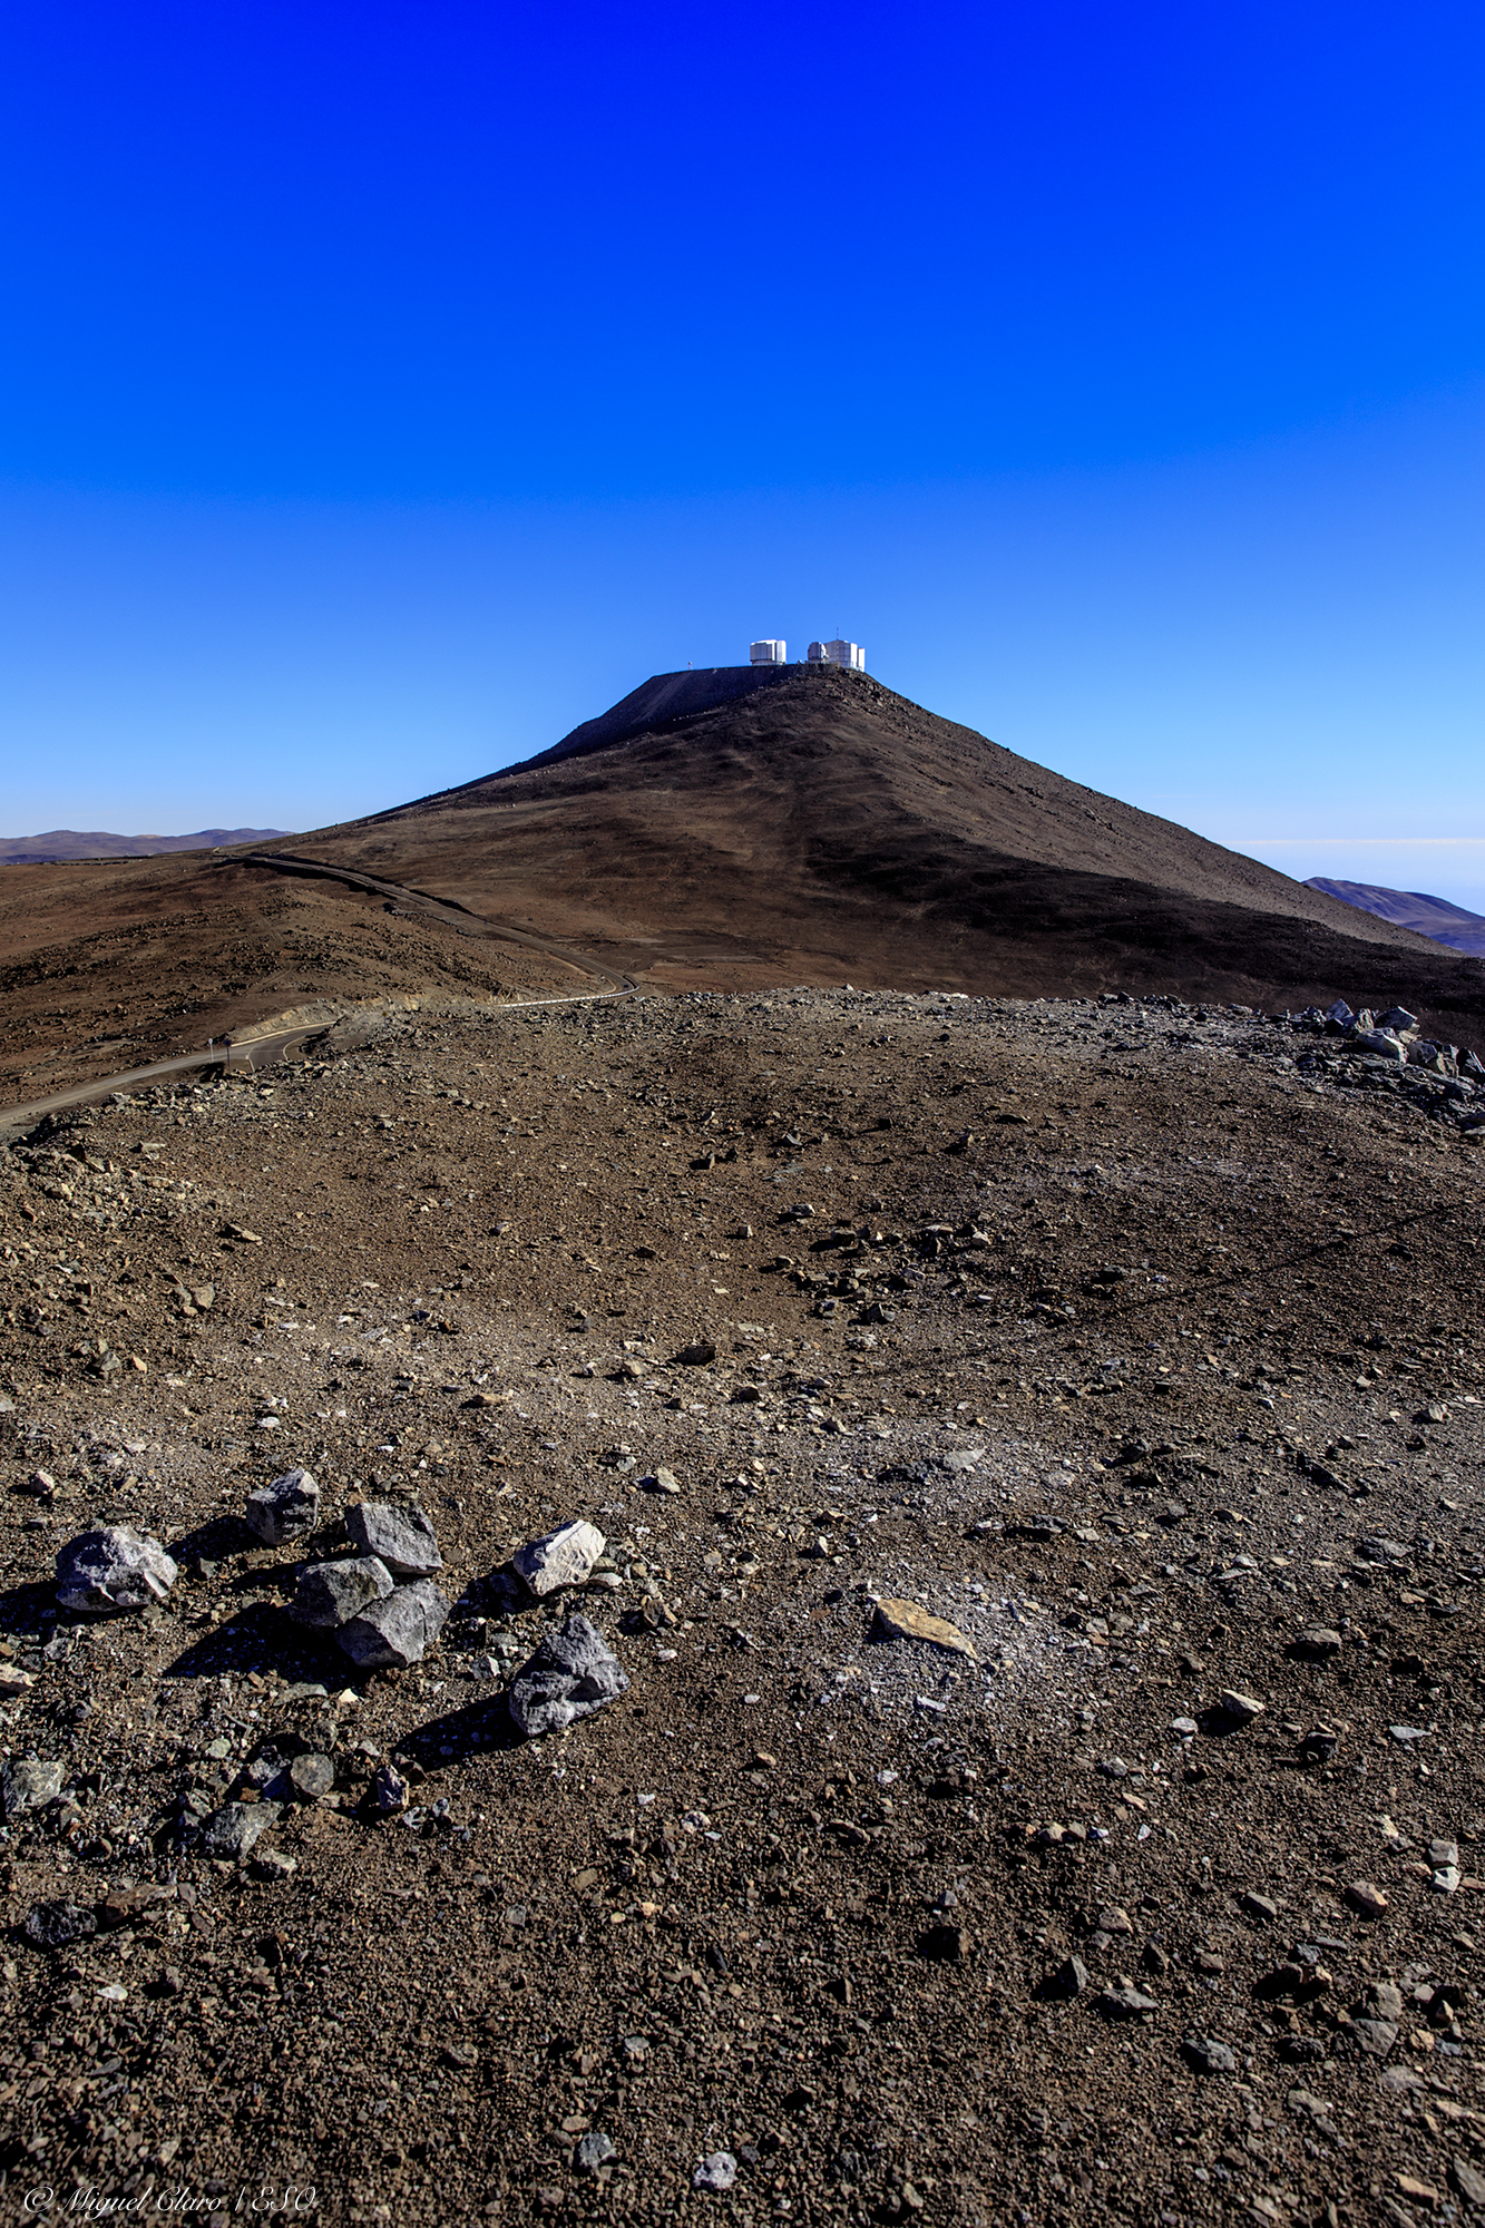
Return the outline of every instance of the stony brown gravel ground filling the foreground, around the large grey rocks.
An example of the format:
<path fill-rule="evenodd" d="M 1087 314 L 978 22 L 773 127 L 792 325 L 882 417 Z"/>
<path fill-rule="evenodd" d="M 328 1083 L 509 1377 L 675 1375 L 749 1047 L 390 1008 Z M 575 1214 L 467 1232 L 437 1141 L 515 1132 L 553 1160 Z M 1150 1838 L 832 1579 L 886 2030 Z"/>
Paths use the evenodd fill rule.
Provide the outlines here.
<path fill-rule="evenodd" d="M 1485 2217 L 1458 1065 L 615 998 L 0 1154 L 7 2217 Z M 388 1504 L 450 1613 L 357 1669 Z"/>

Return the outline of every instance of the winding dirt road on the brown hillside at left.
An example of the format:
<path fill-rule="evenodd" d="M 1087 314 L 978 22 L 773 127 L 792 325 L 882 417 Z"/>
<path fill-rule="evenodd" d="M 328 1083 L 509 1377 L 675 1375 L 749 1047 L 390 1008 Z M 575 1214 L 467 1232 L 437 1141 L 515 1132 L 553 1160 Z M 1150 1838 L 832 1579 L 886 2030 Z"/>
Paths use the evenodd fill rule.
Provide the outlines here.
<path fill-rule="evenodd" d="M 524 1014 L 533 1005 L 593 1005 L 600 998 L 633 998 L 640 985 L 633 976 L 620 974 L 618 967 L 604 967 L 602 960 L 591 960 L 582 951 L 571 951 L 566 945 L 553 945 L 544 936 L 531 936 L 524 929 L 508 929 L 504 922 L 486 920 L 482 913 L 470 913 L 468 907 L 455 905 L 450 898 L 433 898 L 424 889 L 408 889 L 404 882 L 386 882 L 375 873 L 357 873 L 352 867 L 328 867 L 321 860 L 294 858 L 279 851 L 250 851 L 245 858 L 234 860 L 236 867 L 272 867 L 279 873 L 305 873 L 319 876 L 330 882 L 346 882 L 350 889 L 368 889 L 375 896 L 390 898 L 399 918 L 404 920 L 437 920 L 459 936 L 493 938 L 497 942 L 524 945 L 528 951 L 542 951 L 546 958 L 562 960 L 569 967 L 578 967 L 582 974 L 595 976 L 606 983 L 606 989 L 586 991 L 573 998 L 520 998 L 511 1000 L 506 1007 L 493 1007 L 493 1014 Z M 348 1016 L 350 1018 L 350 1016 Z M 261 1036 L 223 1038 L 219 1045 L 210 1045 L 205 1052 L 181 1052 L 169 1061 L 149 1061 L 145 1067 L 125 1067 L 116 1076 L 96 1076 L 91 1083 L 74 1083 L 65 1092 L 51 1092 L 47 1098 L 29 1098 L 13 1107 L 0 1107 L 0 1145 L 9 1145 L 11 1139 L 25 1136 L 27 1130 L 36 1127 L 49 1114 L 65 1114 L 71 1107 L 98 1105 L 103 1098 L 111 1098 L 114 1092 L 145 1092 L 161 1083 L 174 1083 L 185 1076 L 196 1076 L 207 1069 L 256 1069 L 274 1067 L 290 1058 L 294 1049 L 323 1036 L 332 1020 L 297 1020 L 283 1029 L 268 1029 Z"/>

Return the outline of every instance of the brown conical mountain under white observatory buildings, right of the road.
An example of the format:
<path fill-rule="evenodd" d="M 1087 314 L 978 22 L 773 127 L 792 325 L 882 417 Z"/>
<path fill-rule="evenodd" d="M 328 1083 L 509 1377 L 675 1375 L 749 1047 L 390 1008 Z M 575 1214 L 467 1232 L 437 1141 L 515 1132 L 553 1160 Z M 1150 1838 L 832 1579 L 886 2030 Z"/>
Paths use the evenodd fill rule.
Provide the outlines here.
<path fill-rule="evenodd" d="M 1485 1009 L 1478 965 L 832 668 L 656 675 L 522 766 L 294 851 L 658 985 Z"/>

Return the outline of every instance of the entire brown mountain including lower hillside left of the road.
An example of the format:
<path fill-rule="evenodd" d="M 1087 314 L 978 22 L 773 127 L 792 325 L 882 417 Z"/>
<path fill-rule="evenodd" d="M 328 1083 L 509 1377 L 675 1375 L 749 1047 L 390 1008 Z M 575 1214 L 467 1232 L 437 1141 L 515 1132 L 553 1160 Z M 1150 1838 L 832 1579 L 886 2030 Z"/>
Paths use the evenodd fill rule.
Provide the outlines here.
<path fill-rule="evenodd" d="M 268 847 L 450 898 L 653 989 L 843 983 L 1411 1005 L 1485 965 L 832 668 L 656 675 L 555 749 Z M 580 991 L 560 960 L 252 853 L 0 876 L 0 1076 L 33 1096 L 310 996 Z"/>

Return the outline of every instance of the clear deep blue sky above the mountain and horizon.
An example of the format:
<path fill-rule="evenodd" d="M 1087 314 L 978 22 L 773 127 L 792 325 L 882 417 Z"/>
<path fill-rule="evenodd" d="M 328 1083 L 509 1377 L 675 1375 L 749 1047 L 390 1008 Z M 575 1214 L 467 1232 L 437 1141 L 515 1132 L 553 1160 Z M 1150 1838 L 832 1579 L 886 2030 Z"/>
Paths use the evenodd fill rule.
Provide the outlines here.
<path fill-rule="evenodd" d="M 1478 9 L 82 0 L 0 71 L 0 831 L 892 686 L 1485 911 Z"/>

